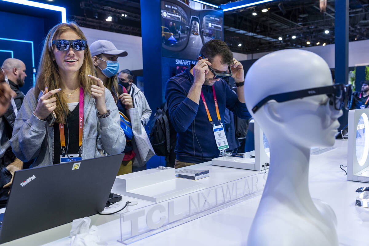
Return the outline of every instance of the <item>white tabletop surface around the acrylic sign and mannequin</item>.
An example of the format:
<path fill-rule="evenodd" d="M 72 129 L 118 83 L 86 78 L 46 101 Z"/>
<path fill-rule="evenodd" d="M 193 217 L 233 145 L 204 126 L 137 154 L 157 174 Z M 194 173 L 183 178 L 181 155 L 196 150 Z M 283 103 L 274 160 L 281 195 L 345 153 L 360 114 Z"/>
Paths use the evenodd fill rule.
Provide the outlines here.
<path fill-rule="evenodd" d="M 339 164 L 346 166 L 347 141 L 337 140 L 335 147 L 337 149 L 320 155 L 312 155 L 310 158 L 311 196 L 327 202 L 335 211 L 340 245 L 369 245 L 367 236 L 369 219 L 366 222 L 361 219 L 363 214 L 369 218 L 369 209 L 355 207 L 355 198 L 358 195 L 355 190 L 358 187 L 369 186 L 369 184 L 346 180 L 345 173 L 339 168 Z M 185 169 L 210 170 L 210 177 L 201 179 L 206 188 L 258 173 L 211 166 L 211 162 L 185 167 Z M 246 245 L 248 231 L 260 198 L 261 196 L 240 202 L 130 245 Z M 121 203 L 124 204 L 128 200 L 138 201 L 138 205 L 130 207 L 131 210 L 153 204 L 153 202 L 130 197 L 123 197 Z M 122 212 L 125 211 L 127 210 Z M 99 228 L 101 240 L 106 241 L 108 245 L 123 245 L 117 242 L 120 236 L 119 214 L 93 215 L 90 218 L 91 225 L 97 225 Z M 4 245 L 69 245 L 70 228 L 71 223 L 68 223 Z"/>

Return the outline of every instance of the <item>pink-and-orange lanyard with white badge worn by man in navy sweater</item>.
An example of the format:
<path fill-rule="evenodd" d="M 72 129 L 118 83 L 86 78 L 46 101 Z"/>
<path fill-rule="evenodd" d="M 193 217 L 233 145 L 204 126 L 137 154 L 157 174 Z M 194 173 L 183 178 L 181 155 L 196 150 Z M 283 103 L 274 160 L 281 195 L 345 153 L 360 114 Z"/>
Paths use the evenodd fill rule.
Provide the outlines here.
<path fill-rule="evenodd" d="M 201 90 L 201 98 L 203 100 L 203 103 L 204 103 L 204 106 L 205 106 L 205 110 L 206 110 L 206 114 L 208 116 L 209 122 L 213 126 L 215 143 L 216 143 L 216 145 L 218 147 L 218 150 L 228 149 L 228 141 L 227 141 L 227 137 L 225 136 L 225 132 L 224 132 L 224 128 L 223 128 L 223 123 L 222 123 L 222 121 L 220 119 L 217 97 L 215 96 L 215 89 L 214 89 L 214 86 L 212 86 L 212 87 L 213 87 L 213 96 L 214 96 L 215 111 L 217 112 L 217 118 L 218 118 L 218 121 L 219 121 L 220 125 L 215 126 L 215 124 L 213 123 L 213 120 L 211 119 L 210 112 L 209 112 L 209 109 L 207 107 L 207 104 L 206 104 L 206 101 L 205 101 L 204 94 L 203 94 L 203 91 L 202 90 Z"/>

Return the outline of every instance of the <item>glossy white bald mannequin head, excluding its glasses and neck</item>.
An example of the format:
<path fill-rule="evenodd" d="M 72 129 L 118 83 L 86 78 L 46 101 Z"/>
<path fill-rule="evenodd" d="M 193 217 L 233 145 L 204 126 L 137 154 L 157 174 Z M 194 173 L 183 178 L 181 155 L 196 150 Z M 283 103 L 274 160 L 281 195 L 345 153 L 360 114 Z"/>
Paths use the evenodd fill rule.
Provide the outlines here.
<path fill-rule="evenodd" d="M 255 114 L 251 111 L 269 95 L 331 84 L 330 69 L 320 56 L 300 49 L 276 51 L 257 60 L 248 70 L 245 102 L 269 142 L 284 138 L 306 148 L 332 146 L 342 110 L 335 110 L 327 95 L 283 103 L 271 100 Z"/>

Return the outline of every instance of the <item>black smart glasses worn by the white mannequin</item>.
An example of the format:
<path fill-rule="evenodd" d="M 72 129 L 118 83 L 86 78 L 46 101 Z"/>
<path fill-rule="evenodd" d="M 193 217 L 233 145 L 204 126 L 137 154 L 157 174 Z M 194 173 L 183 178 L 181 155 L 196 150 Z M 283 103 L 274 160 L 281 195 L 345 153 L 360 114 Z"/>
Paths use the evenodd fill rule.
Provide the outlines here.
<path fill-rule="evenodd" d="M 331 86 L 323 86 L 323 87 L 316 87 L 306 90 L 298 90 L 298 91 L 290 91 L 280 94 L 274 94 L 270 95 L 268 97 L 265 97 L 263 100 L 261 100 L 258 104 L 255 105 L 254 108 L 252 108 L 252 112 L 255 112 L 259 110 L 264 104 L 266 104 L 270 100 L 276 100 L 278 103 L 298 99 L 298 98 L 304 98 L 304 97 L 310 97 L 310 96 L 316 96 L 321 94 L 327 94 L 330 100 L 330 105 L 334 105 L 334 108 L 336 110 L 340 110 L 342 107 L 342 103 L 344 104 L 345 109 L 349 109 L 349 101 L 351 100 L 352 95 L 352 86 L 351 84 L 334 84 Z"/>

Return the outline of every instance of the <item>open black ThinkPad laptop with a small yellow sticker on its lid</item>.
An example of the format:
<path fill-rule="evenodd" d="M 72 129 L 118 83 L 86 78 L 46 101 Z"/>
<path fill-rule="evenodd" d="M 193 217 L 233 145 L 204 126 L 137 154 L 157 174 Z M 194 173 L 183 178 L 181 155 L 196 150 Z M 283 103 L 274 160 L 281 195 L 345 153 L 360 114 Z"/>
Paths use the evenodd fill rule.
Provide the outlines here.
<path fill-rule="evenodd" d="M 123 156 L 16 171 L 0 243 L 103 211 Z"/>

